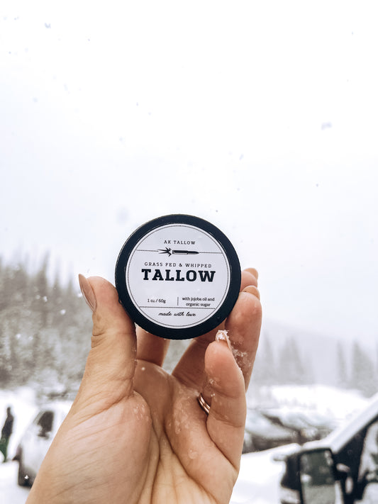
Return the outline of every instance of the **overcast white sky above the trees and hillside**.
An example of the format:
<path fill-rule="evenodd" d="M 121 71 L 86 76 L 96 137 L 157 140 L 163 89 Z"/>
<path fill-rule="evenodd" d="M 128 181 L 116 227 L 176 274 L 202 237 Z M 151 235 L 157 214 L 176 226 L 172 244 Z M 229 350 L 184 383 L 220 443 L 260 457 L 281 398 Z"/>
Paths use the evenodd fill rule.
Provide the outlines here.
<path fill-rule="evenodd" d="M 378 335 L 374 1 L 3 0 L 0 254 L 113 281 L 150 218 L 218 225 L 267 319 Z"/>

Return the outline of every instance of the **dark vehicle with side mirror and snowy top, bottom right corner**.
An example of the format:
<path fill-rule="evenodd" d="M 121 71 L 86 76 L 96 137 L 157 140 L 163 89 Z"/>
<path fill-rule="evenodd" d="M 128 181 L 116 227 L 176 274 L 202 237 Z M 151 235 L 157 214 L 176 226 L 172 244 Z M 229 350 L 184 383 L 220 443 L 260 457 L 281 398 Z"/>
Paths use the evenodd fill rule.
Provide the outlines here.
<path fill-rule="evenodd" d="M 282 504 L 378 503 L 378 394 L 348 423 L 286 457 Z"/>

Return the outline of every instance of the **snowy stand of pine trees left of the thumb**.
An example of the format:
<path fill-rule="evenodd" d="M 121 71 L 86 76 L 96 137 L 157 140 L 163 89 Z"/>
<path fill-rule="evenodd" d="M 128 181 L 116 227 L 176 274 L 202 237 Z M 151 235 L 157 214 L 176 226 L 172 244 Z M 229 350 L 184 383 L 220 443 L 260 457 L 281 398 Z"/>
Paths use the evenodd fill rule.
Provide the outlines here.
<path fill-rule="evenodd" d="M 0 386 L 59 380 L 76 386 L 91 345 L 91 315 L 79 287 L 48 278 L 48 255 L 35 274 L 0 260 Z"/>

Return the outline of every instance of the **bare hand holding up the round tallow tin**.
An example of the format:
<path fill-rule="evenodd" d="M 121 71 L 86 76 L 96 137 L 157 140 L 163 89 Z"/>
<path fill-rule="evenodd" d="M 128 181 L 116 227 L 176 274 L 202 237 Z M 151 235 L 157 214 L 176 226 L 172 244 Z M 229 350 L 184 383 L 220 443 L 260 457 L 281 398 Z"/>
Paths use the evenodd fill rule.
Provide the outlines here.
<path fill-rule="evenodd" d="M 161 367 L 169 341 L 135 334 L 108 281 L 80 283 L 93 310 L 91 350 L 27 503 L 228 503 L 260 334 L 257 271 L 243 271 L 225 323 L 233 352 L 213 330 L 191 341 L 172 374 Z"/>

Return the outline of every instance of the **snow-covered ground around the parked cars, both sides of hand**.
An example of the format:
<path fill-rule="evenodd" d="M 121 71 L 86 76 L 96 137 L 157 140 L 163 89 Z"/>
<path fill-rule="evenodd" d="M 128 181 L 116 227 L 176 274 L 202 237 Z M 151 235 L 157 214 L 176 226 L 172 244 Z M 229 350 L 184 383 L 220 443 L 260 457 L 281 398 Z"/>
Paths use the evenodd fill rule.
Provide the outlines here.
<path fill-rule="evenodd" d="M 326 386 L 272 386 L 259 391 L 259 401 L 270 401 L 281 408 L 307 408 L 343 421 L 367 403 L 357 391 Z M 257 397 L 249 396 L 249 403 L 257 405 Z M 16 452 L 18 440 L 38 411 L 38 401 L 32 388 L 0 391 L 0 426 L 11 406 L 15 418 L 9 443 L 9 458 Z M 272 459 L 282 447 L 266 452 L 243 455 L 240 476 L 232 502 L 235 504 L 277 504 L 278 486 L 283 463 Z M 0 464 L 1 504 L 24 504 L 28 495 L 25 488 L 17 488 L 17 463 Z"/>

